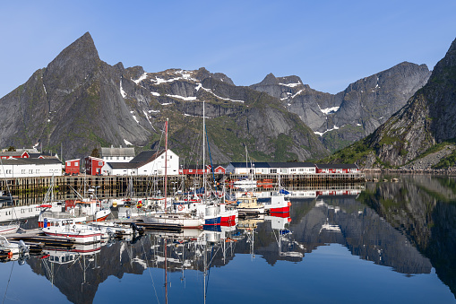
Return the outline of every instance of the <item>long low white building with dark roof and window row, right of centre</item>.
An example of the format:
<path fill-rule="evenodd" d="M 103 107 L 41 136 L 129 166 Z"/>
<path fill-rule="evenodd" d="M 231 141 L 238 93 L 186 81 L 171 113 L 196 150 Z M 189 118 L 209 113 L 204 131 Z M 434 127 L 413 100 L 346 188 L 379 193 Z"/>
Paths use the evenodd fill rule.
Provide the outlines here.
<path fill-rule="evenodd" d="M 227 174 L 315 174 L 312 162 L 230 162 Z"/>

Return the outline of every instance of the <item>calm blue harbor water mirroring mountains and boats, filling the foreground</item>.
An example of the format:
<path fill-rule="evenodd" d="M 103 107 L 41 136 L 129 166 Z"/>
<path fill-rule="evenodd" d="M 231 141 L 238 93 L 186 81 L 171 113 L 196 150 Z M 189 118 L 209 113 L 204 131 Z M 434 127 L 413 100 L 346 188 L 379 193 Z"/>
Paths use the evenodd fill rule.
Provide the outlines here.
<path fill-rule="evenodd" d="M 148 233 L 80 252 L 47 249 L 0 264 L 0 296 L 4 303 L 454 303 L 456 178 L 399 178 L 366 183 L 355 195 L 293 197 L 289 217 Z"/>

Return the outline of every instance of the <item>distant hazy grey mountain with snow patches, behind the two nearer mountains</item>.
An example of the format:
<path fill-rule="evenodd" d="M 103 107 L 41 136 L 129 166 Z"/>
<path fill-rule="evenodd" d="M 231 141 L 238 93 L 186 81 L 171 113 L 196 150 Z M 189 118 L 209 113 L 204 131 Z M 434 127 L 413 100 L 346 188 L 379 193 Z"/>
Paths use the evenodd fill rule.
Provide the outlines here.
<path fill-rule="evenodd" d="M 337 151 L 383 124 L 423 85 L 430 72 L 426 65 L 403 62 L 388 70 L 351 83 L 337 94 L 315 91 L 297 76 L 268 74 L 251 86 L 282 101 L 320 135 L 323 144 Z"/>

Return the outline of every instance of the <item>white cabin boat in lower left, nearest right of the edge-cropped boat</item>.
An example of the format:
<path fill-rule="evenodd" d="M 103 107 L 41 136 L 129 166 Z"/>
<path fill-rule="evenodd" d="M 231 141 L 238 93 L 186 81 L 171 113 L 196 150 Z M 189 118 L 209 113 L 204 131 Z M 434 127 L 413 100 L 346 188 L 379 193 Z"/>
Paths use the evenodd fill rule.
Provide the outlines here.
<path fill-rule="evenodd" d="M 102 232 L 96 227 L 78 224 L 73 219 L 52 219 L 46 222 L 42 231 L 51 237 L 71 238 L 75 243 L 95 243 L 101 240 Z"/>

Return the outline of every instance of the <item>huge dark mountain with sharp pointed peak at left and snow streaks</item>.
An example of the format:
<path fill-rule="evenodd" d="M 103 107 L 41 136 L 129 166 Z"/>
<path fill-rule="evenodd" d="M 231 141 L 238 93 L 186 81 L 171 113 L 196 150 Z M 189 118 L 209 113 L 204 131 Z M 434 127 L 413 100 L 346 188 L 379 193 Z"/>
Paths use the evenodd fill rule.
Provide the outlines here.
<path fill-rule="evenodd" d="M 203 101 L 214 162 L 243 160 L 244 144 L 256 161 L 328 155 L 280 100 L 204 68 L 146 73 L 141 66 L 108 65 L 89 32 L 0 99 L 0 146 L 62 149 L 67 160 L 100 146 L 132 144 L 139 152 L 163 144 L 169 118 L 169 147 L 188 163 L 201 155 L 195 141 Z"/>

